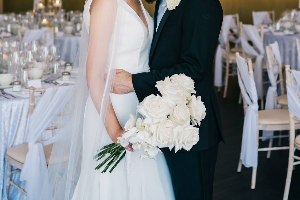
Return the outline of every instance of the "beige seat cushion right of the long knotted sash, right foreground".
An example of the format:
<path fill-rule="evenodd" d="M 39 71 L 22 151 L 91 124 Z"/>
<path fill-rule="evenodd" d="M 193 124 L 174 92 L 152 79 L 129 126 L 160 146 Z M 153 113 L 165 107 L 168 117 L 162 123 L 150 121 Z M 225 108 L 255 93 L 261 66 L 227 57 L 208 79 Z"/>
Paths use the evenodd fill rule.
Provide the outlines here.
<path fill-rule="evenodd" d="M 259 110 L 258 123 L 262 125 L 289 124 L 290 123 L 289 112 L 288 110 L 284 110 L 284 109 Z"/>

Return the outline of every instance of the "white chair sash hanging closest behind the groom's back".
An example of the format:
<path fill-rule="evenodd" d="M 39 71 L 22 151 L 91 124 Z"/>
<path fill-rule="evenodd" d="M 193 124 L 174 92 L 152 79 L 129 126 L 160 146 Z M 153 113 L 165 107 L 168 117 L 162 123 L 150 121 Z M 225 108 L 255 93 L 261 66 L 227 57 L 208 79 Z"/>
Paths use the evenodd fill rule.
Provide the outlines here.
<path fill-rule="evenodd" d="M 217 52 L 216 52 L 216 58 L 215 58 L 215 80 L 214 80 L 214 85 L 216 87 L 221 88 L 223 85 L 223 80 L 222 80 L 222 47 L 224 48 L 225 42 L 227 42 L 228 39 L 228 34 L 230 30 L 230 25 L 232 22 L 232 15 L 225 15 L 223 19 L 223 24 L 219 36 L 219 42 L 220 44 L 217 47 Z"/>

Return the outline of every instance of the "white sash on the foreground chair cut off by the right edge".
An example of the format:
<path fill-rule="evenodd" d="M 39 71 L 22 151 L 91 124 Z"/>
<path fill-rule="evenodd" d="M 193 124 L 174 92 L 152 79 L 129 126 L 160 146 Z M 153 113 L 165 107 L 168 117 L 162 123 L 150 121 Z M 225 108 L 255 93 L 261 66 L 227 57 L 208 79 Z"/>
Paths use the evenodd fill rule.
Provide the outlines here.
<path fill-rule="evenodd" d="M 295 78 L 296 83 L 294 83 L 293 78 Z M 287 83 L 287 103 L 289 112 L 293 113 L 298 119 L 300 119 L 300 98 L 299 98 L 299 88 L 300 88 L 300 71 L 292 70 L 291 73 L 292 86 Z M 295 87 L 296 91 L 295 92 Z"/>

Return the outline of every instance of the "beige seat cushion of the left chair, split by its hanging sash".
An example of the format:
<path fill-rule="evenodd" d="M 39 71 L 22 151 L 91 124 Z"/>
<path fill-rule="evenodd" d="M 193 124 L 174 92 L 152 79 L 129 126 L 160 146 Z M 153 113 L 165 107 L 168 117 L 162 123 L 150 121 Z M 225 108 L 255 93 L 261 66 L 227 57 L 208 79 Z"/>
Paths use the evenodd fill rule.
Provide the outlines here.
<path fill-rule="evenodd" d="M 49 144 L 49 145 L 43 147 L 47 165 L 49 164 L 52 147 L 53 147 L 53 144 Z M 17 162 L 24 164 L 27 152 L 28 152 L 28 143 L 24 143 L 24 144 L 20 144 L 20 145 L 14 146 L 12 148 L 9 148 L 6 151 L 6 154 L 9 157 L 11 157 L 12 159 L 16 160 Z"/>

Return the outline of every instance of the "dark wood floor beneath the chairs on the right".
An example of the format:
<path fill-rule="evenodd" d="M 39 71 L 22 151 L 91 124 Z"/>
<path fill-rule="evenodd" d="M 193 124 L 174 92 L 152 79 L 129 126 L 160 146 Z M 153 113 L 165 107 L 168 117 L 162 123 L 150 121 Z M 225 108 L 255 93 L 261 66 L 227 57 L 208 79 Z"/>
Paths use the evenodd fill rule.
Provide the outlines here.
<path fill-rule="evenodd" d="M 242 128 L 243 108 L 238 105 L 239 88 L 237 79 L 231 78 L 226 99 L 223 91 L 218 93 L 221 108 L 223 134 L 225 144 L 220 143 L 217 166 L 214 179 L 214 200 L 280 200 L 283 197 L 287 175 L 288 150 L 273 151 L 271 158 L 266 158 L 266 152 L 258 153 L 256 189 L 250 189 L 252 168 L 242 167 L 237 173 Z M 274 142 L 278 144 L 277 140 Z M 267 142 L 260 143 L 267 147 Z M 282 145 L 288 145 L 288 139 L 282 140 Z M 297 152 L 298 154 L 299 152 Z M 289 200 L 299 200 L 300 166 L 293 171 Z"/>

